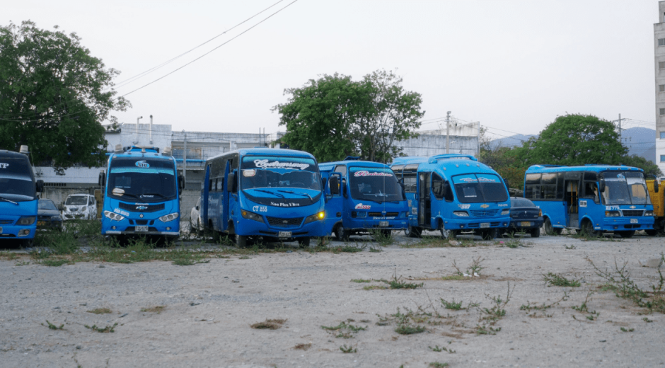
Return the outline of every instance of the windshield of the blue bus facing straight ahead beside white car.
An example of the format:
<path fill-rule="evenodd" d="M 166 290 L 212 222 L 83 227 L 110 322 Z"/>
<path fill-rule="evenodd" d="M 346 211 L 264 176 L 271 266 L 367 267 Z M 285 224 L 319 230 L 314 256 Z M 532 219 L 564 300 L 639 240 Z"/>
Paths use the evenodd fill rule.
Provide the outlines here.
<path fill-rule="evenodd" d="M 173 161 L 116 157 L 109 169 L 107 194 L 122 200 L 173 200 L 178 191 Z"/>

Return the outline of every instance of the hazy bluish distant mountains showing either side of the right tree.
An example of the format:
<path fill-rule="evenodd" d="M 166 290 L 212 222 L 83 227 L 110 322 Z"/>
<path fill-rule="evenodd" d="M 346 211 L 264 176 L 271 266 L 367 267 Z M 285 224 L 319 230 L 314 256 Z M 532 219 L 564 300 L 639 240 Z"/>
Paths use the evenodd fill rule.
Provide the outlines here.
<path fill-rule="evenodd" d="M 497 146 L 513 147 L 521 146 L 531 137 L 538 135 L 515 134 L 510 137 L 494 139 L 490 141 L 490 146 L 494 149 Z M 621 134 L 621 141 L 628 148 L 629 155 L 637 155 L 652 162 L 656 162 L 656 131 L 649 128 L 634 127 L 624 130 Z"/>

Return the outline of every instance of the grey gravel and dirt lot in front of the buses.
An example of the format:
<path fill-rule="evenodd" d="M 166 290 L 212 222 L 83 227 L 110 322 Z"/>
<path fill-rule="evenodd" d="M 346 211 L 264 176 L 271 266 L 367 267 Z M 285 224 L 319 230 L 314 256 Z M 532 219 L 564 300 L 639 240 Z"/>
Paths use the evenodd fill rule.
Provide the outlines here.
<path fill-rule="evenodd" d="M 615 260 L 627 262 L 630 279 L 651 290 L 659 282 L 657 269 L 640 267 L 638 260 L 659 257 L 664 238 L 467 238 L 444 247 L 401 234 L 393 240 L 378 247 L 364 238 L 355 242 L 367 246 L 358 253 L 292 248 L 190 266 L 152 261 L 47 267 L 27 255 L 0 260 L 0 365 L 665 364 L 665 315 L 600 288 L 606 280 L 587 260 L 611 271 Z M 478 276 L 457 275 L 454 265 L 473 274 L 468 269 L 479 257 Z M 543 276 L 548 272 L 580 286 L 549 286 Z M 391 281 L 403 288 L 391 289 Z M 453 301 L 461 301 L 462 309 L 454 310 Z M 110 313 L 91 313 L 96 309 Z M 266 320 L 277 320 L 263 323 L 275 329 L 251 327 Z M 112 333 L 97 332 L 110 328 Z"/>

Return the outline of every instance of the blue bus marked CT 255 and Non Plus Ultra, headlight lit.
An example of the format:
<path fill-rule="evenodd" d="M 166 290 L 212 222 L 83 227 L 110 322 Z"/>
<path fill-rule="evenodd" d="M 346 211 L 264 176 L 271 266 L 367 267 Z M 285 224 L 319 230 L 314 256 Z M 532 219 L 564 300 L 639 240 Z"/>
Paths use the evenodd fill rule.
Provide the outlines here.
<path fill-rule="evenodd" d="M 316 159 L 291 149 L 238 149 L 206 161 L 201 219 L 215 236 L 298 241 L 323 236 L 323 189 Z"/>

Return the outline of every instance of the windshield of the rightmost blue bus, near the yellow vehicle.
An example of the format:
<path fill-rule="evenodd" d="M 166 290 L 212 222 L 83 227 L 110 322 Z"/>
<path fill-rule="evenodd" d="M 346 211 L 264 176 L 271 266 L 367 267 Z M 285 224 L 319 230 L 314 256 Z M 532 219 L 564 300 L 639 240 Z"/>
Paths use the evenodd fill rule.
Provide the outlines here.
<path fill-rule="evenodd" d="M 637 172 L 606 172 L 603 202 L 605 205 L 649 205 L 649 192 L 644 175 Z"/>

